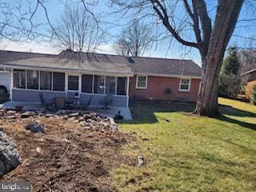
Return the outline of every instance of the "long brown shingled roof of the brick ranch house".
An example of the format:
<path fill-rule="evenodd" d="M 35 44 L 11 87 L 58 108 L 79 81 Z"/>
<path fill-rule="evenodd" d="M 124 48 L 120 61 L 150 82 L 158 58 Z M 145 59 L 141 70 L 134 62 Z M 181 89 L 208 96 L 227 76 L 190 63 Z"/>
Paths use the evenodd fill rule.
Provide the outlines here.
<path fill-rule="evenodd" d="M 34 54 L 0 50 L 0 65 L 55 70 L 79 70 L 94 74 L 134 74 L 201 77 L 201 67 L 192 60 L 166 58 L 127 58 L 120 55 L 62 51 L 60 54 Z"/>

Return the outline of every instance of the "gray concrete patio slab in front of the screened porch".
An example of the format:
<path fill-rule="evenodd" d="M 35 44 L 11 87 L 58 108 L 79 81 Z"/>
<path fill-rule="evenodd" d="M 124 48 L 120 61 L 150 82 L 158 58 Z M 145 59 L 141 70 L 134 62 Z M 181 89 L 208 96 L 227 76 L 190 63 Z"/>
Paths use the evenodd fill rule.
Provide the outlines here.
<path fill-rule="evenodd" d="M 41 106 L 38 102 L 5 102 L 0 104 L 0 109 L 11 109 L 14 110 L 15 106 L 23 106 L 24 110 L 43 110 L 44 107 Z M 121 111 L 121 114 L 124 117 L 124 120 L 131 120 L 132 116 L 130 114 L 129 107 L 123 106 L 110 106 L 109 110 L 102 110 L 102 106 L 99 105 L 90 105 L 88 111 L 94 111 L 98 114 L 103 114 L 107 117 L 114 118 L 114 115 Z"/>

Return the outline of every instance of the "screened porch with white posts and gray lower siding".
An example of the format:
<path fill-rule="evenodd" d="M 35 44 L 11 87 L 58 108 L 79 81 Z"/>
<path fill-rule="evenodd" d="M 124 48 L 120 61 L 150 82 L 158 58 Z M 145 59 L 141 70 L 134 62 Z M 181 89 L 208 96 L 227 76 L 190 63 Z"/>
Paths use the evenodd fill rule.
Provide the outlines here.
<path fill-rule="evenodd" d="M 10 74 L 13 101 L 39 102 L 40 92 L 46 98 L 65 97 L 72 92 L 77 98 L 91 97 L 94 106 L 106 95 L 112 95 L 110 106 L 128 106 L 129 76 L 28 69 L 12 69 Z"/>

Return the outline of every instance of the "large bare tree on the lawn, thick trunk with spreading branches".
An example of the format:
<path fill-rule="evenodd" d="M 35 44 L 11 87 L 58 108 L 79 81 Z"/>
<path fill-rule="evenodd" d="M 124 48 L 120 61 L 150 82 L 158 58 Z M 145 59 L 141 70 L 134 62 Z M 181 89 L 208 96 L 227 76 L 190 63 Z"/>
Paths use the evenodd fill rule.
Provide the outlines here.
<path fill-rule="evenodd" d="M 226 46 L 234 32 L 243 0 L 218 0 L 210 18 L 205 0 L 111 0 L 118 12 L 136 13 L 133 19 L 164 26 L 184 46 L 198 49 L 202 59 L 202 82 L 195 114 L 217 116 L 218 75 Z M 212 25 L 213 24 L 213 25 Z M 188 32 L 189 31 L 189 32 Z M 192 32 L 192 33 L 191 33 Z"/>

